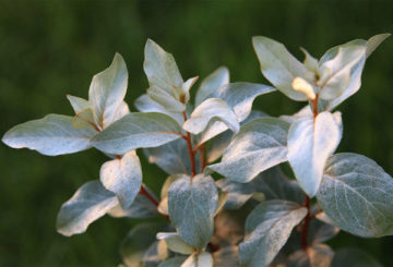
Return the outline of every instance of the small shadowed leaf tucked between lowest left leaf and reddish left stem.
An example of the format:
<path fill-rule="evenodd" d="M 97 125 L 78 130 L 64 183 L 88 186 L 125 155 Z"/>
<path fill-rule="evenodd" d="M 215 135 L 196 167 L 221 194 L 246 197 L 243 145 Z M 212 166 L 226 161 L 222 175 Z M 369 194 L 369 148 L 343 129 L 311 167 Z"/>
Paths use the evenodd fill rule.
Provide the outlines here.
<path fill-rule="evenodd" d="M 146 189 L 148 190 L 148 189 Z M 153 192 L 148 190 L 148 193 L 154 195 Z M 135 199 L 131 204 L 131 206 L 127 209 L 123 209 L 120 204 L 116 205 L 111 208 L 108 214 L 115 218 L 152 218 L 158 216 L 157 207 L 145 196 L 145 195 L 136 195 Z"/>

